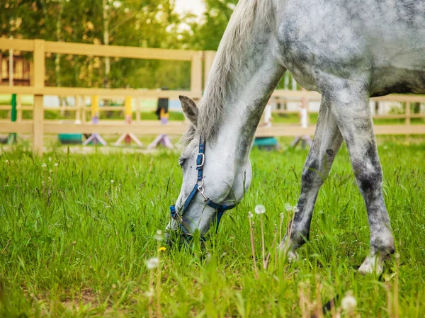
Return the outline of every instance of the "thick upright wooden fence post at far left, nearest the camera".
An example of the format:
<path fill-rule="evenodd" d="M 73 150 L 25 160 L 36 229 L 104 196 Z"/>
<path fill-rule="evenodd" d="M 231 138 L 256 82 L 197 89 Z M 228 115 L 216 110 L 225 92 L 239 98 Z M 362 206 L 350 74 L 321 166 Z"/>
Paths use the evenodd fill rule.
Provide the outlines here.
<path fill-rule="evenodd" d="M 34 40 L 34 87 L 43 89 L 45 86 L 45 41 Z M 43 137 L 43 95 L 36 94 L 34 96 L 33 110 L 33 152 L 42 154 L 42 137 Z"/>

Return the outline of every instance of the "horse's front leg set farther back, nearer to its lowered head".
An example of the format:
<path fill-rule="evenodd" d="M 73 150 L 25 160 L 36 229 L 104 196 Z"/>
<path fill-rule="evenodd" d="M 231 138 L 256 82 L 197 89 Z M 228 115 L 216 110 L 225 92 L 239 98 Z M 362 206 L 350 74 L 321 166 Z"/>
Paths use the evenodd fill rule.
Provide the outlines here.
<path fill-rule="evenodd" d="M 297 258 L 296 250 L 304 244 L 310 233 L 310 223 L 319 189 L 329 175 L 336 153 L 341 147 L 342 135 L 331 113 L 329 101 L 322 98 L 316 132 L 301 177 L 301 193 L 297 212 L 287 229 L 280 249 L 290 260 Z"/>

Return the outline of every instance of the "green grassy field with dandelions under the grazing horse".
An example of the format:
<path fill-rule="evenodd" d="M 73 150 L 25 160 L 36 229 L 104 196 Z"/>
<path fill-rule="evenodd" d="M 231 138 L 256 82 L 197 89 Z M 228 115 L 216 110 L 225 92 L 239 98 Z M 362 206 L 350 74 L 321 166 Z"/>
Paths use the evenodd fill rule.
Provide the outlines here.
<path fill-rule="evenodd" d="M 369 230 L 345 147 L 319 193 L 310 242 L 291 264 L 276 255 L 273 241 L 288 224 L 285 203 L 296 203 L 305 150 L 254 149 L 249 193 L 202 249 L 155 240 L 179 194 L 179 154 L 5 152 L 0 317 L 149 317 L 149 311 L 152 317 L 321 317 L 332 299 L 325 317 L 424 317 L 425 140 L 379 143 L 399 254 L 380 278 L 356 271 Z M 271 256 L 263 269 L 254 215 L 256 278 L 247 215 L 258 204 L 266 207 Z M 149 270 L 145 261 L 152 257 L 160 263 Z M 356 299 L 352 310 L 349 294 Z"/>

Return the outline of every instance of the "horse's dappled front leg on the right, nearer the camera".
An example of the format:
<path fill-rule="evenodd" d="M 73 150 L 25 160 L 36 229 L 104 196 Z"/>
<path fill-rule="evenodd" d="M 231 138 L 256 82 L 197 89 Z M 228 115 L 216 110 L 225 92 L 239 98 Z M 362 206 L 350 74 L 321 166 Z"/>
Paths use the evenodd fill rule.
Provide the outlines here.
<path fill-rule="evenodd" d="M 346 85 L 346 87 L 349 87 Z M 376 147 L 369 98 L 366 93 L 344 91 L 344 102 L 332 101 L 331 111 L 346 141 L 358 188 L 366 205 L 370 251 L 361 273 L 381 273 L 384 259 L 394 253 L 394 237 L 382 195 L 382 167 Z"/>

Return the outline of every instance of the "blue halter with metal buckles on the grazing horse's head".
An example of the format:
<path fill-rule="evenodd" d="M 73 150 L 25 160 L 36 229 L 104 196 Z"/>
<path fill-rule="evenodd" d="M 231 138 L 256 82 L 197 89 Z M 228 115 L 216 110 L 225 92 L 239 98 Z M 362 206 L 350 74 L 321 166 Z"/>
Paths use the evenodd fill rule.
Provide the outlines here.
<path fill-rule="evenodd" d="M 185 234 L 187 237 L 191 237 L 191 233 L 188 232 L 188 230 L 183 226 L 183 214 L 188 209 L 189 205 L 191 205 L 193 198 L 195 198 L 196 193 L 200 193 L 200 195 L 203 196 L 204 202 L 206 205 L 210 206 L 211 208 L 215 208 L 217 210 L 217 223 L 215 227 L 215 232 L 218 231 L 218 225 L 220 224 L 220 220 L 225 213 L 226 210 L 230 210 L 234 208 L 236 205 L 220 205 L 215 203 L 211 200 L 210 197 L 205 195 L 205 188 L 204 188 L 204 181 L 203 181 L 203 165 L 205 162 L 205 144 L 203 144 L 202 139 L 199 139 L 199 152 L 198 157 L 196 157 L 196 170 L 198 170 L 198 181 L 196 182 L 195 186 L 193 187 L 193 190 L 191 194 L 186 199 L 183 209 L 181 211 L 177 212 L 176 206 L 171 205 L 170 206 L 170 212 L 171 217 L 178 222 L 179 229 L 181 229 L 181 232 Z"/>

